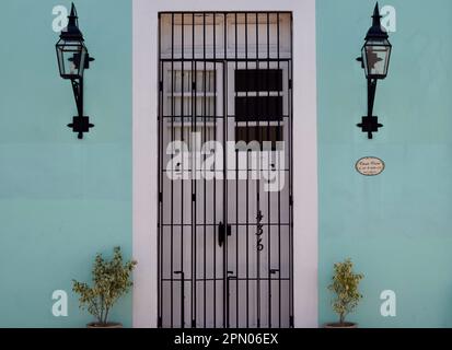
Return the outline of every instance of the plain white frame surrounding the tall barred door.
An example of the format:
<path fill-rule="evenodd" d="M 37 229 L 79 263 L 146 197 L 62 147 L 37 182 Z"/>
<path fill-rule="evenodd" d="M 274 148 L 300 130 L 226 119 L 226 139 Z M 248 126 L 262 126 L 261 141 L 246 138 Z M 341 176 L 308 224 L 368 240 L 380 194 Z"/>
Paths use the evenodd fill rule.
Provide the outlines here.
<path fill-rule="evenodd" d="M 293 13 L 294 326 L 317 326 L 317 140 L 315 0 L 132 0 L 134 327 L 157 327 L 158 13 Z"/>

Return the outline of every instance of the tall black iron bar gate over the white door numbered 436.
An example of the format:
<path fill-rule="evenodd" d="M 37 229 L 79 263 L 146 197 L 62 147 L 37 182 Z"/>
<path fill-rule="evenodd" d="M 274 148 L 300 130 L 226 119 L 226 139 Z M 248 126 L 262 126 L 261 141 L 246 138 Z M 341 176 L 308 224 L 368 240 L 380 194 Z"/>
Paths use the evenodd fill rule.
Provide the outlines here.
<path fill-rule="evenodd" d="M 293 326 L 292 16 L 159 13 L 159 327 Z"/>

